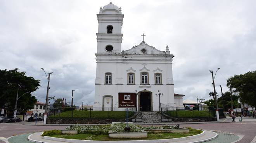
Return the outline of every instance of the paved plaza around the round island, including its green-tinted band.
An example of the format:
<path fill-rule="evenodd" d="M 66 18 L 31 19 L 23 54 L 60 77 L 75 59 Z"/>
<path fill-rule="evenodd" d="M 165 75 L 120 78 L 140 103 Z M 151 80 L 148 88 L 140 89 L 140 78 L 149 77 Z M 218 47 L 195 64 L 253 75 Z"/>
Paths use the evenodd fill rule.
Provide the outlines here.
<path fill-rule="evenodd" d="M 206 129 L 216 131 L 218 138 L 209 143 L 231 143 L 236 140 L 240 140 L 237 143 L 256 143 L 256 118 L 247 117 L 239 122 L 239 118 L 235 123 L 231 123 L 231 118 L 222 119 L 221 122 L 216 123 L 183 123 L 180 127 L 192 127 L 196 129 Z M 10 143 L 18 143 L 21 140 L 26 140 L 27 133 L 40 132 L 50 129 L 65 129 L 67 125 L 49 126 L 43 125 L 42 122 L 22 122 L 22 123 L 3 123 L 0 124 L 0 143 L 5 143 L 6 138 L 12 137 L 8 141 Z M 23 141 L 25 142 L 25 141 Z"/>

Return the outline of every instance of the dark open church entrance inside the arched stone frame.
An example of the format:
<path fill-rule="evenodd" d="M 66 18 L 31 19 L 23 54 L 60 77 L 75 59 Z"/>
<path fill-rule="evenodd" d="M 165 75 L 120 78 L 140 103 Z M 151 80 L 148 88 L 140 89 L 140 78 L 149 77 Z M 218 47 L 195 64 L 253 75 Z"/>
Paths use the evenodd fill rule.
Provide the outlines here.
<path fill-rule="evenodd" d="M 139 107 L 141 111 L 151 111 L 151 93 L 140 92 Z"/>

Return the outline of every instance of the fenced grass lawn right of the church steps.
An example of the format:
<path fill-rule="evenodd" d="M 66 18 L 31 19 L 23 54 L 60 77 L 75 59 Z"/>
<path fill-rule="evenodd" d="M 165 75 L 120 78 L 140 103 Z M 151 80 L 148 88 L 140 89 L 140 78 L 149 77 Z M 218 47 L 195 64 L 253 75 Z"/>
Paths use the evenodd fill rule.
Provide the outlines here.
<path fill-rule="evenodd" d="M 168 111 L 171 117 L 213 117 L 208 111 Z"/>

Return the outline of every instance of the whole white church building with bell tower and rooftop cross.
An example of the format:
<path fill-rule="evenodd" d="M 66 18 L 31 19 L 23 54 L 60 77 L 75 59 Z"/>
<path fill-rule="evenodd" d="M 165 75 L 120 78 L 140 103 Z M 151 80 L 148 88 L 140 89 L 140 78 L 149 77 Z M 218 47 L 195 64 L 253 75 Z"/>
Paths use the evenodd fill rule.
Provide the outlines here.
<path fill-rule="evenodd" d="M 118 108 L 119 92 L 136 91 L 138 110 L 159 111 L 159 92 L 163 94 L 160 97 L 162 104 L 183 107 L 183 96 L 174 96 L 174 56 L 170 54 L 168 46 L 165 51 L 160 51 L 145 43 L 145 35 L 142 34 L 141 43 L 122 51 L 124 15 L 121 7 L 109 3 L 100 7 L 97 17 L 99 27 L 96 34 L 97 70 L 93 107 L 115 110 Z M 178 101 L 177 104 L 175 101 Z"/>

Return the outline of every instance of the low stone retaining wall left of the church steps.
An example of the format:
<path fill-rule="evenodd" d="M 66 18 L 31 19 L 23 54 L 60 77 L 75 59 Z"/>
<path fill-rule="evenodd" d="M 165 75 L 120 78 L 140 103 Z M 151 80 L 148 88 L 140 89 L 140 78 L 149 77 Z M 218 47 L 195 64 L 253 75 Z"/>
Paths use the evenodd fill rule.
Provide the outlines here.
<path fill-rule="evenodd" d="M 110 124 L 112 122 L 125 122 L 125 119 L 47 118 L 46 120 L 46 124 Z"/>

